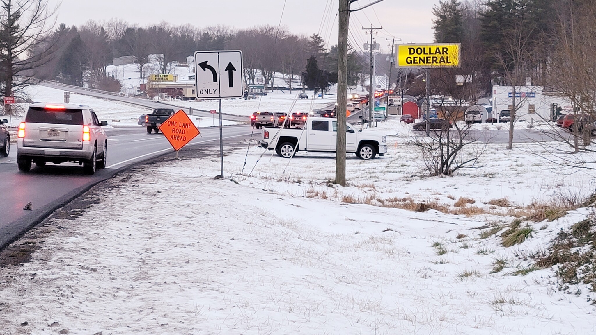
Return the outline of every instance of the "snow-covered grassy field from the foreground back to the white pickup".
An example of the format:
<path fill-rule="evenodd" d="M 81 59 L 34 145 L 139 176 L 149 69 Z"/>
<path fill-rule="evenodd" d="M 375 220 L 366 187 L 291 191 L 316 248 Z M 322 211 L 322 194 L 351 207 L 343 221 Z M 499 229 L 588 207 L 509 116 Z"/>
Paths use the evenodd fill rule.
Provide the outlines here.
<path fill-rule="evenodd" d="M 499 144 L 482 167 L 425 177 L 409 127 L 382 125 L 389 153 L 349 155 L 344 188 L 328 184 L 333 155 L 260 158 L 248 142 L 226 150 L 229 179 L 213 180 L 216 152 L 115 177 L 82 216 L 37 228 L 49 234 L 31 262 L 0 269 L 0 334 L 594 331 L 588 287 L 558 292 L 551 269 L 516 275 L 589 209 L 528 222 L 532 237 L 509 248 L 479 237 L 532 202 L 588 196 L 592 174 L 562 174 L 537 144 Z"/>

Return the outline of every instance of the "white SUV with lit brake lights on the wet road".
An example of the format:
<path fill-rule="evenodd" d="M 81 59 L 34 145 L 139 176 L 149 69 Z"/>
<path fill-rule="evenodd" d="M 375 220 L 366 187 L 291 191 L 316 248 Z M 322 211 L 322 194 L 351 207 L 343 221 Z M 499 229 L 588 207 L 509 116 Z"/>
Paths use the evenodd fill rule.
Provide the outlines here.
<path fill-rule="evenodd" d="M 101 126 L 107 122 L 100 123 L 86 105 L 29 105 L 18 126 L 18 170 L 28 172 L 32 161 L 38 167 L 46 162 L 78 162 L 85 174 L 94 174 L 96 168 L 105 167 L 107 158 L 107 137 Z"/>

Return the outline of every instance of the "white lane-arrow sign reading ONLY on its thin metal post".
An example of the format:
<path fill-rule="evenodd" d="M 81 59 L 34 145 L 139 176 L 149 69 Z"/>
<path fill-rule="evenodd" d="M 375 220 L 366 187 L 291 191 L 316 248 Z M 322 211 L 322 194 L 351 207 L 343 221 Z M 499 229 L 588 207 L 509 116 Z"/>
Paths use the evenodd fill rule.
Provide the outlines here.
<path fill-rule="evenodd" d="M 219 159 L 224 177 L 224 130 L 222 129 L 222 99 L 243 98 L 242 51 L 197 51 L 194 53 L 197 99 L 219 100 Z"/>

